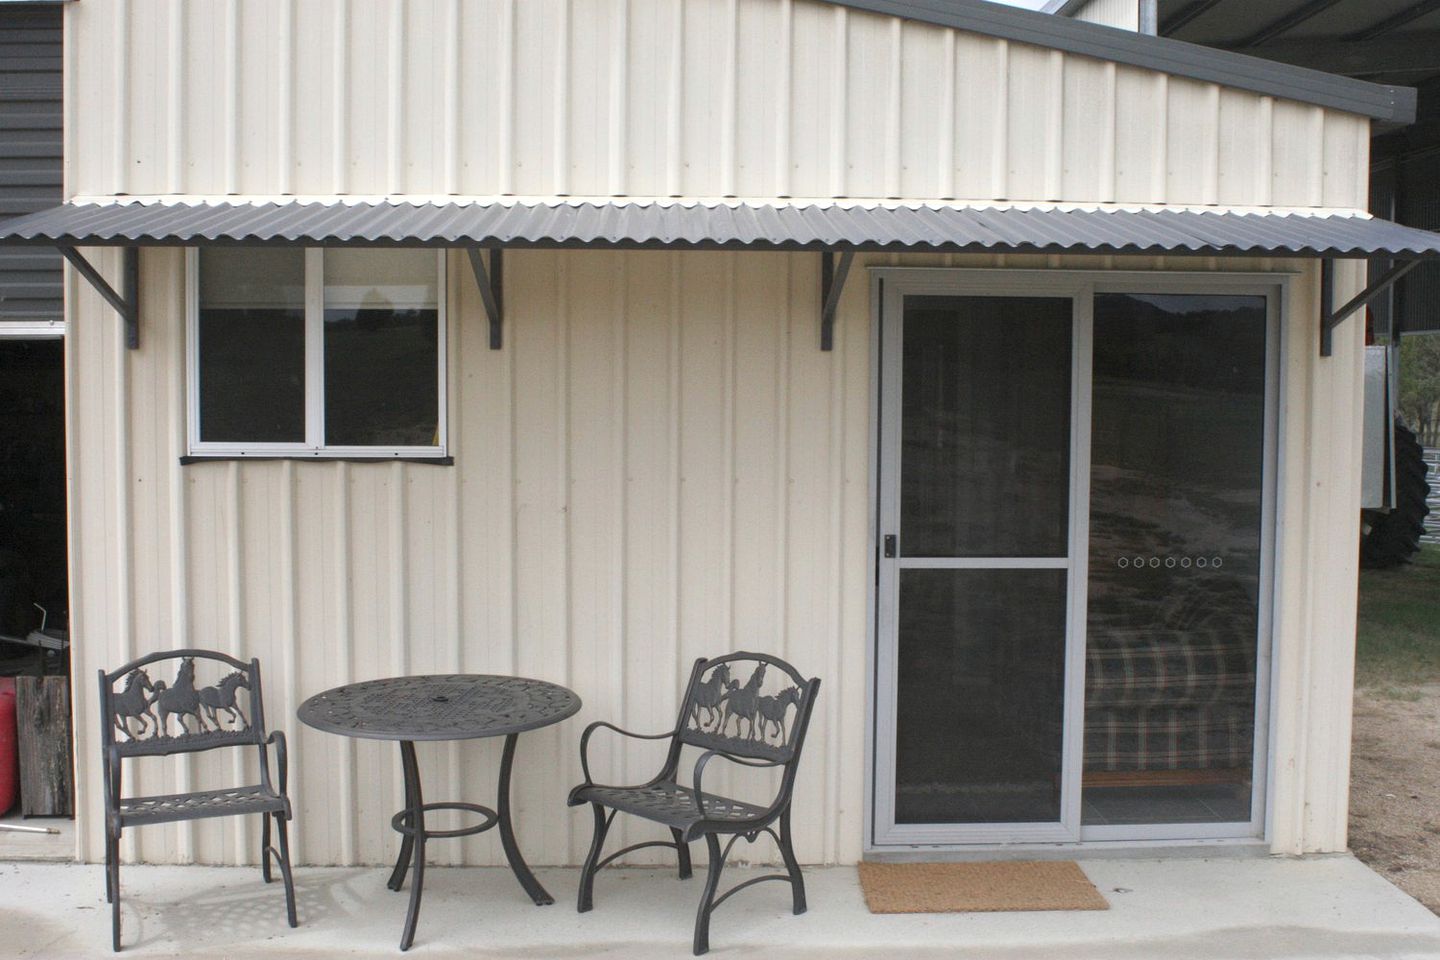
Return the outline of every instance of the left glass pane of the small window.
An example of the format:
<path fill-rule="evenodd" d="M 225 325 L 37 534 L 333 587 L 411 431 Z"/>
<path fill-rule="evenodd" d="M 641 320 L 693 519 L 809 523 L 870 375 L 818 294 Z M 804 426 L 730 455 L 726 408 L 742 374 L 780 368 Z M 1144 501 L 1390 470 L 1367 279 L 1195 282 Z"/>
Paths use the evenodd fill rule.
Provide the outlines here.
<path fill-rule="evenodd" d="M 200 439 L 305 442 L 305 252 L 200 250 Z"/>

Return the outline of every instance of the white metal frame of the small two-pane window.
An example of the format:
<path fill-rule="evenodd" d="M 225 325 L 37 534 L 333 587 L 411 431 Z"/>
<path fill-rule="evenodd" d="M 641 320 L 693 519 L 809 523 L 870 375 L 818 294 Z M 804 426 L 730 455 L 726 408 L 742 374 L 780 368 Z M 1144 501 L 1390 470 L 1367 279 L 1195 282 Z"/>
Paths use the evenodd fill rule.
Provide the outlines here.
<path fill-rule="evenodd" d="M 446 461 L 449 458 L 449 321 L 445 250 L 433 250 L 436 271 L 436 433 L 439 443 L 425 446 L 325 445 L 325 250 L 305 253 L 305 439 L 298 443 L 200 439 L 200 250 L 186 249 L 186 453 L 190 458 L 253 459 L 372 459 Z"/>

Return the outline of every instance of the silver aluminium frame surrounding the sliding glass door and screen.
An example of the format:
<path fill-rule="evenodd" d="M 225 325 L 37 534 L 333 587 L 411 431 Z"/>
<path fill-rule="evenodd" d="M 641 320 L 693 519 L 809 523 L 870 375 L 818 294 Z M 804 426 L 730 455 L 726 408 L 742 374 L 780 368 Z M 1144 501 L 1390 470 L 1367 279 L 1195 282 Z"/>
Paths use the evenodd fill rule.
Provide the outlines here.
<path fill-rule="evenodd" d="M 1195 271 L 1113 271 L 1113 269 L 1007 269 L 1007 268 L 952 268 L 952 266 L 871 266 L 870 268 L 870 348 L 871 348 L 871 363 L 870 363 L 870 445 L 868 445 L 868 472 L 870 472 L 870 489 L 871 497 L 867 501 L 867 547 L 870 550 L 871 561 L 876 564 L 873 574 L 867 577 L 867 597 L 865 597 L 865 615 L 867 615 L 867 643 L 865 643 L 865 794 L 864 794 L 864 828 L 863 828 L 863 852 L 864 855 L 887 855 L 896 853 L 904 849 L 935 849 L 935 851 L 956 851 L 956 852 L 976 852 L 986 849 L 1001 849 L 1012 848 L 1015 851 L 1025 849 L 1043 849 L 1043 848 L 1068 848 L 1068 846 L 1093 846 L 1093 848 L 1113 848 L 1116 845 L 1151 845 L 1151 843 L 1176 843 L 1176 845 L 1192 845 L 1192 843 L 1225 843 L 1225 842 L 1253 842 L 1266 841 L 1272 835 L 1273 822 L 1273 803 L 1274 797 L 1270 792 L 1270 784 L 1274 779 L 1274 756 L 1270 750 L 1270 744 L 1274 738 L 1274 723 L 1276 712 L 1272 710 L 1273 702 L 1273 687 L 1276 682 L 1273 671 L 1274 659 L 1274 645 L 1279 638 L 1279 617 L 1280 610 L 1277 606 L 1277 589 L 1279 581 L 1276 577 L 1279 557 L 1282 551 L 1282 543 L 1277 537 L 1279 518 L 1283 515 L 1283 484 L 1284 484 L 1284 458 L 1282 450 L 1284 449 L 1284 417 L 1283 417 L 1283 397 L 1286 396 L 1286 356 L 1289 353 L 1287 340 L 1283 330 L 1283 321 L 1289 315 L 1292 302 L 1292 282 L 1296 276 L 1296 271 L 1254 271 L 1254 272 L 1195 272 Z M 1021 289 L 1025 294 L 1045 294 L 1050 291 L 1064 289 L 1066 285 L 1073 285 L 1076 288 L 1084 288 L 1086 294 L 1083 299 L 1086 301 L 1086 343 L 1073 344 L 1074 361 L 1083 353 L 1084 356 L 1084 383 L 1086 383 L 1086 450 L 1084 459 L 1073 459 L 1071 471 L 1077 469 L 1079 465 L 1084 463 L 1084 499 L 1077 501 L 1074 485 L 1071 486 L 1071 508 L 1076 502 L 1084 504 L 1084 520 L 1086 520 L 1086 541 L 1081 544 L 1086 551 L 1086 563 L 1083 564 L 1081 583 L 1084 589 L 1070 590 L 1071 596 L 1067 597 L 1067 603 L 1074 603 L 1076 599 L 1080 600 L 1080 640 L 1074 642 L 1067 636 L 1067 704 L 1066 704 L 1066 721 L 1067 730 L 1066 748 L 1080 750 L 1080 738 L 1083 737 L 1083 664 L 1084 664 L 1084 600 L 1089 593 L 1089 390 L 1090 380 L 1093 376 L 1093 361 L 1092 361 L 1092 347 L 1093 347 L 1093 305 L 1094 295 L 1097 292 L 1162 292 L 1162 294 L 1236 294 L 1236 295 L 1261 295 L 1267 301 L 1267 331 L 1266 331 L 1266 450 L 1264 450 L 1264 484 L 1263 484 L 1263 504 L 1261 504 L 1261 573 L 1260 573 L 1260 603 L 1259 603 L 1259 643 L 1257 643 L 1257 664 L 1256 664 L 1256 720 L 1254 720 L 1254 754 L 1253 754 L 1253 783 L 1251 783 L 1251 819 L 1244 825 L 1223 825 L 1223 828 L 1230 829 L 1214 829 L 1214 825 L 1162 825 L 1156 828 L 1143 828 L 1140 825 L 1122 828 L 1120 832 L 1109 832 L 1103 828 L 1084 828 L 1079 823 L 1079 816 L 1076 823 L 1079 826 L 1077 836 L 1073 839 L 1063 841 L 1044 841 L 1044 839 L 1009 839 L 1004 836 L 1002 830 L 995 830 L 994 836 L 981 838 L 976 836 L 973 841 L 926 841 L 926 839 L 896 839 L 888 832 L 881 833 L 878 828 L 880 807 L 881 803 L 888 803 L 888 812 L 893 816 L 893 756 L 891 767 L 888 770 L 888 779 L 883 780 L 878 776 L 880 757 L 883 751 L 881 737 L 890 738 L 890 750 L 894 747 L 894 724 L 893 715 L 891 723 L 887 727 L 881 727 L 881 689 L 880 689 L 880 638 L 881 638 L 881 616 L 884 604 L 881 604 L 881 561 L 880 561 L 880 524 L 881 524 L 881 413 L 883 413 L 883 391 L 887 387 L 886 377 L 886 356 L 884 347 L 884 320 L 886 308 L 894 301 L 896 288 L 903 291 L 910 288 L 913 282 L 929 281 L 930 284 L 945 285 L 945 292 L 952 295 L 966 295 L 972 291 L 976 295 L 1015 295 L 1015 289 Z M 887 289 L 888 288 L 888 289 Z M 891 307 L 893 308 L 893 307 Z M 893 364 L 893 361 L 891 361 Z M 893 374 L 891 374 L 893 376 Z M 1071 396 L 1077 386 L 1079 377 L 1071 384 Z M 891 386 L 893 389 L 893 386 Z M 1079 410 L 1071 409 L 1071 416 L 1079 415 Z M 1071 449 L 1076 443 L 1076 430 L 1071 430 Z M 1077 511 L 1071 510 L 1071 522 L 1076 521 Z M 1074 553 L 1070 554 L 1071 563 L 1074 563 Z M 1071 577 L 1071 583 L 1074 577 Z M 894 604 L 890 604 L 890 610 L 894 610 Z M 1074 610 L 1071 610 L 1074 613 Z M 1067 623 L 1067 629 L 1073 625 L 1073 620 Z M 1070 697 L 1070 682 L 1071 671 L 1070 656 L 1079 652 L 1080 671 L 1077 678 L 1080 681 L 1080 695 Z M 1077 702 L 1070 702 L 1077 701 Z M 1079 710 L 1081 723 L 1070 723 L 1071 710 Z M 1071 744 L 1074 744 L 1071 747 Z M 1067 756 L 1063 761 L 1068 763 Z M 1071 776 L 1076 780 L 1076 786 L 1080 786 L 1080 774 L 1083 771 L 1074 771 Z M 883 796 L 883 789 L 890 790 L 890 796 Z M 1080 792 L 1074 790 L 1074 802 L 1079 805 Z M 1236 829 L 1240 828 L 1240 829 Z M 1123 836 L 1120 835 L 1123 833 Z"/>

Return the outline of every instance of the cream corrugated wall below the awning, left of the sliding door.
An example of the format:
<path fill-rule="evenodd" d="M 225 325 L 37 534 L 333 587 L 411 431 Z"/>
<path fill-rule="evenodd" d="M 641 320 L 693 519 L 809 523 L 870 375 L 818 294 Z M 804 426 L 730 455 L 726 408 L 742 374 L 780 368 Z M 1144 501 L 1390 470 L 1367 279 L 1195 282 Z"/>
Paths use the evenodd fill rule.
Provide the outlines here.
<path fill-rule="evenodd" d="M 390 744 L 300 728 L 300 701 L 369 676 L 518 672 L 586 699 L 521 738 L 520 835 L 534 862 L 576 862 L 580 721 L 667 730 L 696 656 L 776 652 L 825 678 L 799 786 L 806 859 L 854 858 L 863 802 L 867 294 L 837 351 L 816 348 L 814 256 L 514 253 L 507 345 L 491 351 L 455 258 L 454 468 L 179 466 L 180 252 L 143 262 L 144 348 L 78 289 L 76 675 L 150 649 L 258 655 L 289 731 L 305 862 L 392 853 Z M 92 315 L 94 311 L 94 315 Z M 94 380 L 92 380 L 94 377 Z M 91 681 L 94 682 L 94 681 Z M 81 777 L 95 774 L 82 688 Z M 599 741 L 598 741 L 599 744 Z M 433 796 L 488 796 L 491 744 L 425 748 Z M 602 756 L 605 751 L 602 750 Z M 654 750 L 602 764 L 644 777 Z M 203 774 L 230 773 L 212 759 Z M 170 792 L 174 766 L 130 783 Z M 98 797 L 84 790 L 86 852 Z M 567 825 L 569 829 L 557 829 Z M 145 859 L 253 858 L 240 825 L 138 832 Z M 446 849 L 449 848 L 449 849 Z M 490 839 L 436 846 L 490 862 Z M 769 856 L 765 851 L 765 856 Z"/>

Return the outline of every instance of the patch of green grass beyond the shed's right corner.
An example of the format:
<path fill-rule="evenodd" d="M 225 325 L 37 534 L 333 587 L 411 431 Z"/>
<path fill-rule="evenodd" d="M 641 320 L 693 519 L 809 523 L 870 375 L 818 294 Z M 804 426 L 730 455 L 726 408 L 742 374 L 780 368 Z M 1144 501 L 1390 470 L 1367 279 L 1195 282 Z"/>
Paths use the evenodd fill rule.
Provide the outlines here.
<path fill-rule="evenodd" d="M 1394 570 L 1361 570 L 1355 682 L 1391 699 L 1440 682 L 1440 547 Z"/>

